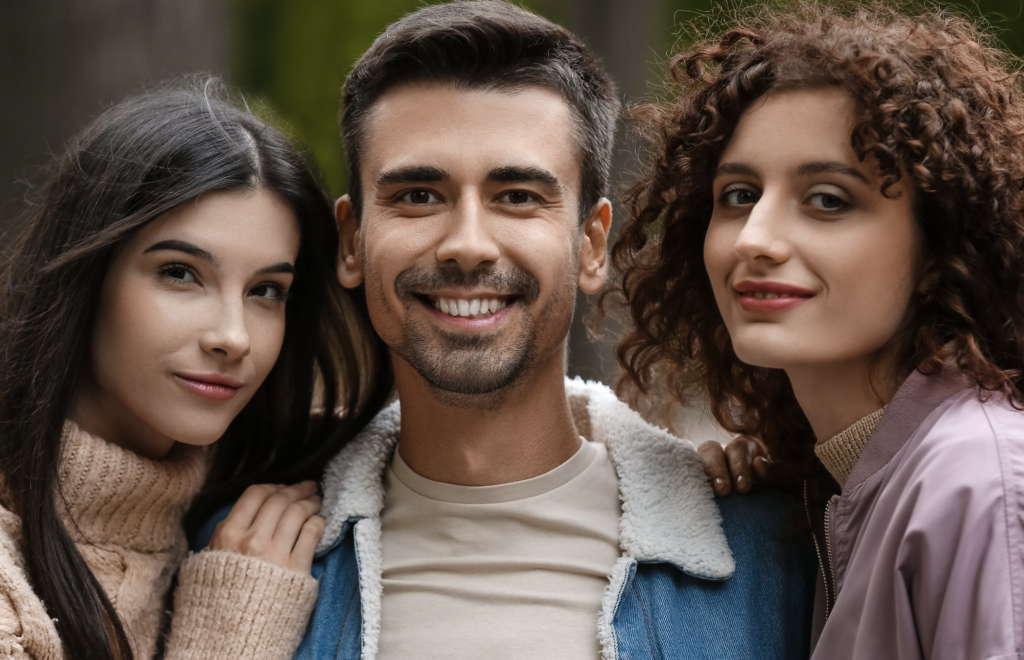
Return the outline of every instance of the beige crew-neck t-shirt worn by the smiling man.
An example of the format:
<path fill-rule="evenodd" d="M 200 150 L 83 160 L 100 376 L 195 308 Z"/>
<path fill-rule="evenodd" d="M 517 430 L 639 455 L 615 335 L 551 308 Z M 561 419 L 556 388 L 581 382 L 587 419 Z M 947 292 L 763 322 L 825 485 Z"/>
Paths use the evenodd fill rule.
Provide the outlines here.
<path fill-rule="evenodd" d="M 382 524 L 380 660 L 595 660 L 618 548 L 618 479 L 582 442 L 547 474 L 456 486 L 396 451 Z"/>

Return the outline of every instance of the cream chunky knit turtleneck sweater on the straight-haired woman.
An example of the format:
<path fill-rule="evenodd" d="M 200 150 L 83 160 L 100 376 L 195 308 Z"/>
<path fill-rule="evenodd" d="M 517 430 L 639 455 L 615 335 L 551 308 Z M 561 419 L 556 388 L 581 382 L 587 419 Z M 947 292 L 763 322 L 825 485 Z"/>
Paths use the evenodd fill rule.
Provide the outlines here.
<path fill-rule="evenodd" d="M 179 567 L 165 658 L 292 656 L 316 601 L 312 577 L 233 553 L 185 559 L 181 518 L 203 484 L 205 449 L 179 445 L 166 459 L 151 460 L 70 423 L 66 433 L 62 516 L 137 660 L 156 652 L 165 596 Z M 53 621 L 25 572 L 20 519 L 0 507 L 0 659 L 62 657 Z"/>

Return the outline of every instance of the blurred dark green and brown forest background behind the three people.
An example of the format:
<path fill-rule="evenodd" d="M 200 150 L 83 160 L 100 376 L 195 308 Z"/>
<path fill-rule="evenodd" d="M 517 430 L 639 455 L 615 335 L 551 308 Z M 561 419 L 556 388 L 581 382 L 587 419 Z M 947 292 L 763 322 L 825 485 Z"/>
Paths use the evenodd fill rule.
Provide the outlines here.
<path fill-rule="evenodd" d="M 784 0 L 781 0 L 784 1 Z M 358 55 L 424 0 L 0 0 L 0 229 L 11 226 L 51 153 L 103 107 L 146 83 L 211 72 L 288 131 L 334 195 L 346 189 L 338 140 L 339 90 Z M 627 102 L 650 95 L 664 62 L 709 11 L 730 0 L 523 0 L 574 31 L 602 56 Z M 933 5 L 934 6 L 934 5 Z M 939 5 L 985 20 L 1024 54 L 1020 0 Z M 637 170 L 624 140 L 616 186 Z M 621 217 L 621 210 L 618 211 Z M 586 305 L 581 307 L 582 318 Z M 587 338 L 578 318 L 570 372 L 611 382 L 612 328 Z"/>

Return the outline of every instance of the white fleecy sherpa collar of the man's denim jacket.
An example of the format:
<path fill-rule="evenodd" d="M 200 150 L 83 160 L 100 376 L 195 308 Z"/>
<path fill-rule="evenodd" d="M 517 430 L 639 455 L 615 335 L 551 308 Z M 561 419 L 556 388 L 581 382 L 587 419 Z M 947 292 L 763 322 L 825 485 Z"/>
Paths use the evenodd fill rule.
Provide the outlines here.
<path fill-rule="evenodd" d="M 667 562 L 695 577 L 725 579 L 735 563 L 722 517 L 693 446 L 644 422 L 599 383 L 565 381 L 581 435 L 607 446 L 623 500 L 620 545 L 637 562 Z M 317 552 L 337 541 L 353 518 L 379 520 L 383 475 L 398 442 L 398 402 L 382 410 L 328 465 L 324 473 L 327 519 Z"/>

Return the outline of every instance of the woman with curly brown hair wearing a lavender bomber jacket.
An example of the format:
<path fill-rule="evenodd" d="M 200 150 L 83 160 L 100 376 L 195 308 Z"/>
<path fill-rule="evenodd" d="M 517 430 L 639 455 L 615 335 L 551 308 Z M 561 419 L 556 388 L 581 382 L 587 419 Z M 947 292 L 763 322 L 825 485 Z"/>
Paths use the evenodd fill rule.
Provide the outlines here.
<path fill-rule="evenodd" d="M 802 5 L 676 57 L 647 116 L 620 359 L 803 490 L 813 658 L 1024 657 L 1018 65 L 962 18 Z"/>

